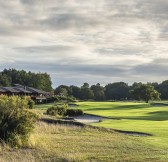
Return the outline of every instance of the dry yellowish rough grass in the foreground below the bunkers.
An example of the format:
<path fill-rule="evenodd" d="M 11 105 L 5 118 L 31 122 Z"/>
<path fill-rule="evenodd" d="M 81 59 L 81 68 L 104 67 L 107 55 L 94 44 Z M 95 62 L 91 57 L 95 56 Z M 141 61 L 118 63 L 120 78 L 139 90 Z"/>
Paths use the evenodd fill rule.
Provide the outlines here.
<path fill-rule="evenodd" d="M 1 161 L 166 161 L 165 152 L 146 145 L 142 138 L 38 122 L 31 137 L 32 149 L 9 151 L 1 147 L 0 158 Z"/>

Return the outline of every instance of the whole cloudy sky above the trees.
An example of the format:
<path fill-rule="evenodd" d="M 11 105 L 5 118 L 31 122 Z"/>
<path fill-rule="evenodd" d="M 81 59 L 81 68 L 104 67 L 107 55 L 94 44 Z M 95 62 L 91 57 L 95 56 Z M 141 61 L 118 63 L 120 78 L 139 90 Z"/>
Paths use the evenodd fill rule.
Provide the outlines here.
<path fill-rule="evenodd" d="M 168 0 L 0 0 L 0 70 L 53 87 L 168 79 Z"/>

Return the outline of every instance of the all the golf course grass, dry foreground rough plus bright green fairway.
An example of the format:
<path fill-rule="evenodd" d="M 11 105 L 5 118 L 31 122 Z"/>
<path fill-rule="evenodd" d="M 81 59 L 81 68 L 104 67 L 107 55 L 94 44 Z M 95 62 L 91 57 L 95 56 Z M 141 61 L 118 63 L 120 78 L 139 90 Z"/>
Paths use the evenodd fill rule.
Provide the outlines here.
<path fill-rule="evenodd" d="M 118 161 L 167 162 L 168 161 L 168 106 L 151 106 L 136 102 L 77 102 L 85 113 L 106 117 L 92 127 L 73 125 L 37 124 L 32 134 L 34 150 L 27 159 L 35 161 Z M 43 113 L 53 104 L 36 105 Z M 128 135 L 113 130 L 135 131 L 152 136 Z M 4 159 L 8 158 L 5 152 Z M 10 157 L 17 158 L 16 152 Z M 21 149 L 19 157 L 24 154 Z"/>

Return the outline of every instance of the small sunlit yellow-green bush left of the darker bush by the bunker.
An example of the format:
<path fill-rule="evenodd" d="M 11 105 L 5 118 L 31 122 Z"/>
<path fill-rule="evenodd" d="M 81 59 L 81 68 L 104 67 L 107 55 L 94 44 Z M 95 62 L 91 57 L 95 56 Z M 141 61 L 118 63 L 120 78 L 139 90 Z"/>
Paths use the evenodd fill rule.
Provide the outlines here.
<path fill-rule="evenodd" d="M 52 116 L 63 116 L 66 113 L 67 105 L 55 105 L 47 109 L 47 114 Z"/>

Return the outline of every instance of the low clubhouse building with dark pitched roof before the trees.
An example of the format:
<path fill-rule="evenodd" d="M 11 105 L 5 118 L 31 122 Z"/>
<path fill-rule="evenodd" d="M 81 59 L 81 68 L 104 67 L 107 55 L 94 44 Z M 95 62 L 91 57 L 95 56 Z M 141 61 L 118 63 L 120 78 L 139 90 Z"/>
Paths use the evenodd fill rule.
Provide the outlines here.
<path fill-rule="evenodd" d="M 15 84 L 13 87 L 0 87 L 0 95 L 7 96 L 30 96 L 36 103 L 47 102 L 47 98 L 53 96 L 50 92 L 45 92 L 36 88 Z"/>

